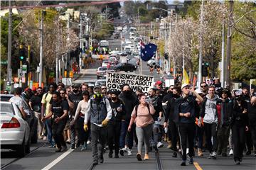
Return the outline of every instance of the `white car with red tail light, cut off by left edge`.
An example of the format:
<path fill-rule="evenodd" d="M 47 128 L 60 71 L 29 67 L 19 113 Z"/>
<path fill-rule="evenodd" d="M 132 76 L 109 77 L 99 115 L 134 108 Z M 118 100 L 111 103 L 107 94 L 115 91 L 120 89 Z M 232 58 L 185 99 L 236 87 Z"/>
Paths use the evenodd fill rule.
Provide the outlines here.
<path fill-rule="evenodd" d="M 30 152 L 30 128 L 21 111 L 11 102 L 0 101 L 1 149 L 16 150 L 18 157 Z"/>

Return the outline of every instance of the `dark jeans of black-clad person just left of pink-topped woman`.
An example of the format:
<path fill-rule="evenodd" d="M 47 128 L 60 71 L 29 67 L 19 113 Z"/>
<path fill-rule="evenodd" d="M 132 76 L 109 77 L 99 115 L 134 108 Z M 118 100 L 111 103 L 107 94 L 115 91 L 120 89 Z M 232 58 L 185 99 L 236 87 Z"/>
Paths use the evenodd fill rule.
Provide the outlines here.
<path fill-rule="evenodd" d="M 132 149 L 133 147 L 135 125 L 132 124 L 131 132 L 127 132 L 128 126 L 129 123 L 127 121 L 121 121 L 121 133 L 119 138 L 120 148 L 124 148 L 126 135 L 129 149 Z"/>

